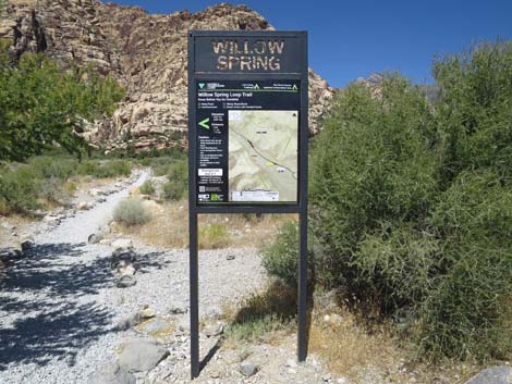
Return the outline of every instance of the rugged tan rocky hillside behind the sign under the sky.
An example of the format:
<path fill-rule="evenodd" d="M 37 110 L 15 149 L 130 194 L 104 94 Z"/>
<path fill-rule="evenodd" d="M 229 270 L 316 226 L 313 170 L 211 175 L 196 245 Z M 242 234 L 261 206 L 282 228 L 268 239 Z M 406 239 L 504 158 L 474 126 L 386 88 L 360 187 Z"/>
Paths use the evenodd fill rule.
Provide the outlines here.
<path fill-rule="evenodd" d="M 188 29 L 273 29 L 245 5 L 221 3 L 203 12 L 148 14 L 138 7 L 96 0 L 11 0 L 0 20 L 0 38 L 20 55 L 45 52 L 68 66 L 95 65 L 126 87 L 112 119 L 97 122 L 93 141 L 163 148 L 186 131 L 186 36 Z M 309 71 L 310 131 L 333 89 Z"/>

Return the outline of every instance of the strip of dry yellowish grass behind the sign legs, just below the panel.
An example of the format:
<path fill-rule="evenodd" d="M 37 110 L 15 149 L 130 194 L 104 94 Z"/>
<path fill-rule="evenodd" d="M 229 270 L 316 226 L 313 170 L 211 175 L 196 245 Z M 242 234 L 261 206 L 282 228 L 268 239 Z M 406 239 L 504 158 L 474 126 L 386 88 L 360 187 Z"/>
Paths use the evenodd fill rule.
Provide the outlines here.
<path fill-rule="evenodd" d="M 136 195 L 136 191 L 133 191 Z M 126 235 L 166 248 L 188 246 L 187 201 L 155 205 L 151 222 L 143 226 L 121 228 Z M 199 248 L 261 247 L 273 239 L 277 228 L 285 221 L 296 220 L 291 214 L 255 215 L 202 214 L 199 215 Z"/>

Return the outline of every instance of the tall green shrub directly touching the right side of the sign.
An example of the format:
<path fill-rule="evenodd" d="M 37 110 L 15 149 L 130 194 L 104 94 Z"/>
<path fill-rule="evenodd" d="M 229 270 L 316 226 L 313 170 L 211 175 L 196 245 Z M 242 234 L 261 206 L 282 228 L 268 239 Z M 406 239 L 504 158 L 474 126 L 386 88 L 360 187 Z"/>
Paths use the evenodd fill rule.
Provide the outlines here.
<path fill-rule="evenodd" d="M 415 222 L 428 231 L 423 223 L 437 194 L 435 137 L 424 95 L 399 76 L 385 79 L 381 99 L 357 84 L 339 95 L 312 159 L 313 226 L 324 249 L 318 269 L 325 284 L 349 284 L 361 296 L 367 288 L 379 292 L 370 282 L 380 271 L 363 277 L 355 263 L 361 243 L 378 237 L 385 223 Z M 397 272 L 391 278 L 400 281 L 405 271 Z"/>

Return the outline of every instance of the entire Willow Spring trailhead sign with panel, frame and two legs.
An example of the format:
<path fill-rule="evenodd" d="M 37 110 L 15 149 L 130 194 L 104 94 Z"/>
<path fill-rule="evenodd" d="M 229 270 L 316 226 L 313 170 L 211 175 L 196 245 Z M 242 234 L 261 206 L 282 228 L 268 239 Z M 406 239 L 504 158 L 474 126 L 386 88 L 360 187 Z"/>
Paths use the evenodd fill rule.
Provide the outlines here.
<path fill-rule="evenodd" d="M 307 356 L 306 32 L 188 34 L 191 375 L 199 375 L 200 213 L 298 213 L 297 359 Z"/>

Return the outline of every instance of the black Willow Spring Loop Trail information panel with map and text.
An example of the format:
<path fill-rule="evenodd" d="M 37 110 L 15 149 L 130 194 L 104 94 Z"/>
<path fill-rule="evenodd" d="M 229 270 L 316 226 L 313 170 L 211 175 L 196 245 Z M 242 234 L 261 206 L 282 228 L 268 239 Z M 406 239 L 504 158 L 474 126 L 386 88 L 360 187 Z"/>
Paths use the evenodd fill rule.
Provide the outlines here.
<path fill-rule="evenodd" d="M 296 202 L 298 80 L 197 80 L 197 201 Z"/>

